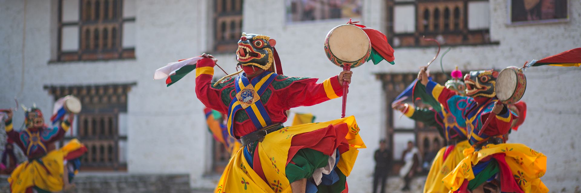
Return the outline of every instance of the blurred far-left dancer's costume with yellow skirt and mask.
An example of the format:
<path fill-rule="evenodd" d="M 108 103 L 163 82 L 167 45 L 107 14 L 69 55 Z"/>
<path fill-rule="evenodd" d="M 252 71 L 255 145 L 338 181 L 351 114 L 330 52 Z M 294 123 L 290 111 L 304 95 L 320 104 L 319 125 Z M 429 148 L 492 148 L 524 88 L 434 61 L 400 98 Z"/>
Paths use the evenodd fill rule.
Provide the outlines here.
<path fill-rule="evenodd" d="M 28 158 L 28 161 L 20 163 L 8 178 L 10 190 L 27 193 L 32 192 L 33 188 L 39 192 L 61 191 L 65 175 L 64 161 L 74 162 L 74 159 L 87 152 L 87 148 L 74 139 L 58 150 L 49 150 L 49 145 L 64 137 L 64 133 L 70 128 L 70 122 L 63 121 L 57 128 L 28 126 L 33 124 L 32 121 L 38 122 L 38 119 L 42 119 L 42 112 L 33 108 L 26 114 L 27 129 L 23 131 L 17 132 L 13 129 L 12 119 L 5 121 L 9 139 L 13 140 Z M 29 116 L 36 120 L 28 119 Z"/>

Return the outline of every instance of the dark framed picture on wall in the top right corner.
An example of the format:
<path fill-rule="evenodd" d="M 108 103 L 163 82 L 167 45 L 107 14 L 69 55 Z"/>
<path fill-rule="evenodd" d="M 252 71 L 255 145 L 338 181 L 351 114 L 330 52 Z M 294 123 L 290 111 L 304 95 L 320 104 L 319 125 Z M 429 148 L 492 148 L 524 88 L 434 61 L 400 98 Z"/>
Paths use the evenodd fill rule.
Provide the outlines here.
<path fill-rule="evenodd" d="M 551 23 L 569 20 L 569 0 L 510 0 L 509 24 Z"/>

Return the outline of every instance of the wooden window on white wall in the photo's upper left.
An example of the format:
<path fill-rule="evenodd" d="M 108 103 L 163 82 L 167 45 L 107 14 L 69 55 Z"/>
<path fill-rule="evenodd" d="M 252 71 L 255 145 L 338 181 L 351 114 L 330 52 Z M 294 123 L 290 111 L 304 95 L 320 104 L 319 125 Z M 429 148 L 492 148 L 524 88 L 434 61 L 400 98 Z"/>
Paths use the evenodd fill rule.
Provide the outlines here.
<path fill-rule="evenodd" d="M 135 17 L 123 13 L 118 0 L 59 0 L 57 61 L 109 60 L 135 57 L 134 42 L 126 43 L 123 28 Z M 67 3 L 67 4 L 63 4 Z M 78 13 L 78 17 L 71 15 Z M 134 25 L 130 25 L 134 28 Z M 75 33 L 77 29 L 77 34 Z M 78 37 L 75 39 L 74 37 Z M 72 39 L 71 39 L 72 38 Z M 131 35 L 127 38 L 134 38 Z"/>

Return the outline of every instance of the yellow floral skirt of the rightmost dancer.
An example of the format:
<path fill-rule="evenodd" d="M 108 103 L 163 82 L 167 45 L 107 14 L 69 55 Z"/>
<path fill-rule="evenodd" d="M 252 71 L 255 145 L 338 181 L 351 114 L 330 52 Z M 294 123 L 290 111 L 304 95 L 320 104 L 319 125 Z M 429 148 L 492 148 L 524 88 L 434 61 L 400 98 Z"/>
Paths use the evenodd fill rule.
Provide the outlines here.
<path fill-rule="evenodd" d="M 464 150 L 464 159 L 442 180 L 444 185 L 450 192 L 458 190 L 464 179 L 474 179 L 472 166 L 493 154 L 506 155 L 505 161 L 523 192 L 548 192 L 540 179 L 547 171 L 547 156 L 524 144 L 515 143 L 488 144 L 480 151 L 467 148 Z"/>

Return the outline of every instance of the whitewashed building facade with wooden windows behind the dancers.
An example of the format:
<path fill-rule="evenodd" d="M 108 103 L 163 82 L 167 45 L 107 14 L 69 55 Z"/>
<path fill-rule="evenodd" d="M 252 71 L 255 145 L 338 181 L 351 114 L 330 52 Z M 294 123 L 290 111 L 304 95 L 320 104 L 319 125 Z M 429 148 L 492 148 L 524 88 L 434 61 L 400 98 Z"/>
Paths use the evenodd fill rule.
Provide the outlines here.
<path fill-rule="evenodd" d="M 396 51 L 395 65 L 368 63 L 353 70 L 347 114 L 357 117 L 368 149 L 360 151 L 349 186 L 368 192 L 380 139 L 388 139 L 396 159 L 407 140 L 422 151 L 444 144 L 437 132 L 400 119 L 390 108 L 393 97 L 436 53 L 424 35 L 439 39 L 443 49 L 451 47 L 446 72 L 455 65 L 464 72 L 501 70 L 581 45 L 580 1 L 519 2 L 0 1 L 0 108 L 14 106 L 16 97 L 27 106 L 35 103 L 48 119 L 58 97 L 76 94 L 84 106 L 70 137 L 88 145 L 88 169 L 185 173 L 192 187 L 212 188 L 219 173 L 214 163 L 224 158 L 215 153 L 207 132 L 195 75 L 166 88 L 152 80 L 153 71 L 209 53 L 234 72 L 232 45 L 243 31 L 277 40 L 285 75 L 325 79 L 341 71 L 325 57 L 325 35 L 352 18 L 385 32 Z M 216 77 L 221 73 L 217 68 Z M 554 191 L 573 192 L 581 184 L 581 144 L 576 142 L 581 89 L 571 83 L 581 81 L 580 75 L 581 68 L 529 68 L 523 97 L 528 117 L 509 141 L 547 155 L 543 180 Z M 340 117 L 340 100 L 293 111 L 328 121 Z M 17 113 L 15 122 L 22 121 Z"/>

